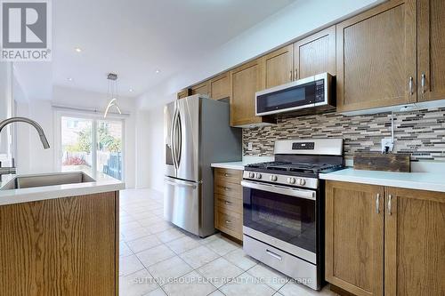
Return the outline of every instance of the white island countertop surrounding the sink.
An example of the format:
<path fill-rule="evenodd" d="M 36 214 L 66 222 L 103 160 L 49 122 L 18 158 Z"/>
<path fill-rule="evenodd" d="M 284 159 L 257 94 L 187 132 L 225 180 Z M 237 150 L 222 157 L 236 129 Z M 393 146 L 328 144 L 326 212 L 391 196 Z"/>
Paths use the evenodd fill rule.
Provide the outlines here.
<path fill-rule="evenodd" d="M 61 172 L 54 172 L 52 174 L 60 173 Z M 4 175 L 2 180 L 0 180 L 0 188 L 4 187 L 4 185 L 6 185 L 6 183 L 8 183 L 14 177 L 16 176 Z M 101 192 L 118 191 L 125 189 L 125 182 L 113 179 L 108 176 L 99 175 L 96 176 L 94 180 L 95 181 L 93 182 L 44 186 L 36 188 L 21 188 L 12 190 L 0 189 L 0 205 L 28 203 L 68 196 L 85 196 Z"/>

